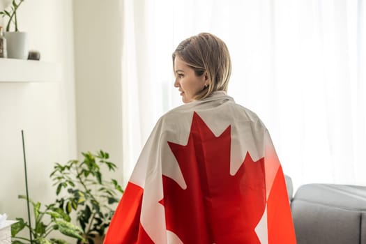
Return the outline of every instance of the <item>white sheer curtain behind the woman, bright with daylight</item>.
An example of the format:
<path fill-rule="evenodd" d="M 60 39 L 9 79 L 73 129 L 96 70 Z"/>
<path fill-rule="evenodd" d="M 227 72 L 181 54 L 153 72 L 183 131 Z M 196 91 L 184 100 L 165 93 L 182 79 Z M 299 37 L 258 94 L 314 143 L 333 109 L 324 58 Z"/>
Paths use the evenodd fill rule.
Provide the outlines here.
<path fill-rule="evenodd" d="M 181 105 L 171 52 L 211 32 L 231 52 L 229 95 L 267 125 L 295 186 L 366 185 L 365 2 L 122 3 L 125 182 L 155 122 Z"/>

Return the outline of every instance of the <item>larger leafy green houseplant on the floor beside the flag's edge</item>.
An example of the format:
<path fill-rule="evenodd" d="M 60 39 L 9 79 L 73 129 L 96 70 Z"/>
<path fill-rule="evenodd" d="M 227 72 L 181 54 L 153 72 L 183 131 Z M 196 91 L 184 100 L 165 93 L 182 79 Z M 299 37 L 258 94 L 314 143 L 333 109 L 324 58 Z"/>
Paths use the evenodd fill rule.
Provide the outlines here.
<path fill-rule="evenodd" d="M 116 180 L 102 178 L 101 167 L 107 167 L 109 171 L 116 169 L 116 165 L 108 161 L 108 153 L 99 151 L 82 155 L 81 161 L 70 160 L 65 165 L 56 163 L 50 176 L 57 185 L 59 207 L 68 215 L 76 212 L 82 236 L 87 243 L 93 244 L 96 237 L 105 235 L 114 214 L 112 205 L 119 201 L 123 190 Z"/>

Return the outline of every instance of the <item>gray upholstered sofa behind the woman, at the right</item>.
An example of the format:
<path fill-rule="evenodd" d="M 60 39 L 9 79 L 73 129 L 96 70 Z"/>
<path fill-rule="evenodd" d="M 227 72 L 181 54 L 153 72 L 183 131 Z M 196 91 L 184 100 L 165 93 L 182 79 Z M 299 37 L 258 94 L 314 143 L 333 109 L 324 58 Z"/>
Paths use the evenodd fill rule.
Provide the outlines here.
<path fill-rule="evenodd" d="M 366 243 L 366 187 L 307 184 L 293 195 L 286 176 L 298 244 Z"/>

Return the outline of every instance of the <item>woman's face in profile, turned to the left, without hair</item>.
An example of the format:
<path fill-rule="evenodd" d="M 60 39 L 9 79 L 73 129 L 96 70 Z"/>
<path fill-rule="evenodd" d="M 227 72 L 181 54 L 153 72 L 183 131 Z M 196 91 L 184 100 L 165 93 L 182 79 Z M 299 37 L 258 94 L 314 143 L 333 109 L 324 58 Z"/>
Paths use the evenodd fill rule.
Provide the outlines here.
<path fill-rule="evenodd" d="M 181 91 L 184 103 L 192 102 L 195 95 L 203 90 L 207 83 L 206 75 L 197 76 L 195 70 L 190 68 L 179 56 L 174 59 L 174 75 L 176 77 L 174 86 Z"/>

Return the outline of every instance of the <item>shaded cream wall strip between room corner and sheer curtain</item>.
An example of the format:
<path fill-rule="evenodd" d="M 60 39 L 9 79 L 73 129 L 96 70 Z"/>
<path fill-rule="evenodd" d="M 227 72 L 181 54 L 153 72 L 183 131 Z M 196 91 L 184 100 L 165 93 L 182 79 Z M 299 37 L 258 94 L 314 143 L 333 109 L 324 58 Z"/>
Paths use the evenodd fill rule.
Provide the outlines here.
<path fill-rule="evenodd" d="M 121 8 L 119 0 L 73 1 L 77 150 L 107 151 L 122 181 Z M 86 10 L 87 8 L 87 10 Z M 108 175 L 108 174 L 107 174 Z"/>

